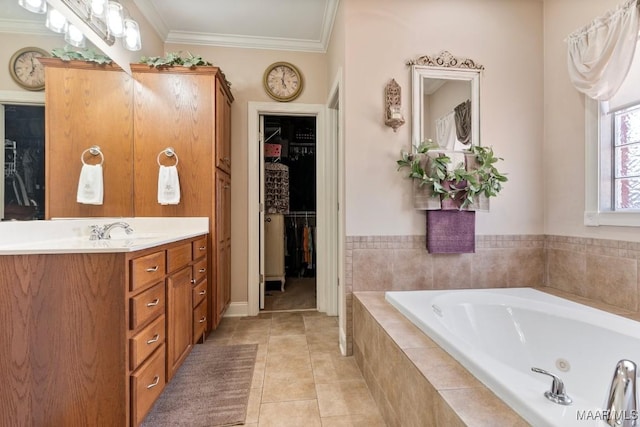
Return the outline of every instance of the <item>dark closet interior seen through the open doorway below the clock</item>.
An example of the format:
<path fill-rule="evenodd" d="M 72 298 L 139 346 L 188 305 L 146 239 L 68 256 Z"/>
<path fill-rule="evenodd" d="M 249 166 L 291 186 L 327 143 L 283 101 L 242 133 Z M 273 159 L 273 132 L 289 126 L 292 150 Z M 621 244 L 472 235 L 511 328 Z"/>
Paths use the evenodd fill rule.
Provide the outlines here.
<path fill-rule="evenodd" d="M 316 118 L 265 116 L 265 310 L 316 308 Z"/>

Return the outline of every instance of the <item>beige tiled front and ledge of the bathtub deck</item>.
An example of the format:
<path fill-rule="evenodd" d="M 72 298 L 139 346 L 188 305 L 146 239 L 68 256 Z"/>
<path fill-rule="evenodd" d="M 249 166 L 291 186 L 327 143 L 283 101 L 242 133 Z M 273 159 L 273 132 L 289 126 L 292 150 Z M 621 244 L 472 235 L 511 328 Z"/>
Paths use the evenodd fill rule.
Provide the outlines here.
<path fill-rule="evenodd" d="M 354 357 L 388 426 L 529 425 L 384 292 L 356 292 L 353 317 Z"/>

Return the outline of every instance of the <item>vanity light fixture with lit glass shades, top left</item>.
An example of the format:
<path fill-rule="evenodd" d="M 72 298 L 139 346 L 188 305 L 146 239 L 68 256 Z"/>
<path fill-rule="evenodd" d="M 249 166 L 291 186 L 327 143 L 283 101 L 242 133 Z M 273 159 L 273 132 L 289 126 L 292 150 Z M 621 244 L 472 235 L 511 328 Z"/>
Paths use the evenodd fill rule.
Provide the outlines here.
<path fill-rule="evenodd" d="M 113 46 L 116 39 L 122 38 L 127 50 L 142 49 L 140 28 L 138 23 L 128 16 L 126 9 L 114 0 L 60 0 L 74 15 L 82 20 L 91 31 L 96 33 L 108 46 Z M 46 0 L 18 0 L 18 4 L 35 13 L 47 12 Z M 76 47 L 84 47 L 84 36 L 67 22 L 64 14 L 49 5 L 47 28 L 57 33 L 65 33 L 65 41 Z M 75 28 L 75 29 L 72 29 Z M 80 32 L 80 34 L 82 34 Z"/>

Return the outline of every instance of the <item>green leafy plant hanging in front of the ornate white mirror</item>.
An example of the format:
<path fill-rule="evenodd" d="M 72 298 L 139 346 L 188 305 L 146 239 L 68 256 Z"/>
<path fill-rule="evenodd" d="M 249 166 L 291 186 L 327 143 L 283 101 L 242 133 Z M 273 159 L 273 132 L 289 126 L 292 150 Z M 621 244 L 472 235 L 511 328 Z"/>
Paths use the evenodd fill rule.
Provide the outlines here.
<path fill-rule="evenodd" d="M 502 190 L 502 184 L 508 179 L 496 168 L 496 163 L 503 160 L 496 157 L 492 147 L 472 145 L 465 153 L 474 155 L 476 164 L 467 168 L 464 163 L 449 168 L 451 158 L 445 153 L 430 157 L 425 162 L 423 156 L 429 151 L 439 148 L 432 140 L 427 140 L 416 147 L 415 152 L 402 152 L 396 161 L 398 170 L 409 168 L 408 177 L 417 180 L 420 187 L 427 186 L 433 197 L 453 199 L 460 202 L 460 209 L 469 207 L 479 196 L 495 197 Z"/>

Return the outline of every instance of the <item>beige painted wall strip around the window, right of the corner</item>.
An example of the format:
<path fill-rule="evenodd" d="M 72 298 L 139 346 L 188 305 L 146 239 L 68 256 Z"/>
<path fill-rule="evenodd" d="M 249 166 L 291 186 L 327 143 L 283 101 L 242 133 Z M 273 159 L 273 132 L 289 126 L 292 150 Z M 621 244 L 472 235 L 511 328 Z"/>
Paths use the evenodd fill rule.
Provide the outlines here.
<path fill-rule="evenodd" d="M 637 227 L 586 227 L 584 213 L 584 96 L 569 81 L 567 35 L 619 0 L 545 0 L 544 177 L 545 234 L 640 241 Z"/>

